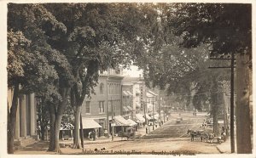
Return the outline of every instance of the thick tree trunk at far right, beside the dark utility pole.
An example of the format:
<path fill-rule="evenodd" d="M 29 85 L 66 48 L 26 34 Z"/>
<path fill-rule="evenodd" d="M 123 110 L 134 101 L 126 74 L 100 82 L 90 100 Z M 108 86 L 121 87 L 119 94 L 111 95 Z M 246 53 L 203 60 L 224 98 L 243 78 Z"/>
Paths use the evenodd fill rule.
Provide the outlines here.
<path fill-rule="evenodd" d="M 252 153 L 249 55 L 236 56 L 236 144 L 238 154 Z"/>

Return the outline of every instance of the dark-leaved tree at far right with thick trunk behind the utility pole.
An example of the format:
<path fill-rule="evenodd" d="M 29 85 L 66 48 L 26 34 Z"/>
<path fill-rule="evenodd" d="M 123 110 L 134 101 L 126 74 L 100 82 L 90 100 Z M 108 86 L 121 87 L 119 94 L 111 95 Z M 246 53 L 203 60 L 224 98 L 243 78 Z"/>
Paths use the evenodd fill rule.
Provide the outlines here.
<path fill-rule="evenodd" d="M 207 43 L 212 46 L 212 56 L 236 54 L 237 153 L 252 153 L 252 5 L 177 3 L 172 8 L 175 9 L 168 14 L 169 25 L 176 35 L 183 35 L 184 47 Z"/>

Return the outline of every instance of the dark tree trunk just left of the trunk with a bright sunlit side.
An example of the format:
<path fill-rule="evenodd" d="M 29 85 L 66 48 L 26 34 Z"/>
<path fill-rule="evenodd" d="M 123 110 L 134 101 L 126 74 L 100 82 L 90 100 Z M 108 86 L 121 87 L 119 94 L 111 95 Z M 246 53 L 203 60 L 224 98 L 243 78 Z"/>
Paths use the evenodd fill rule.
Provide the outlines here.
<path fill-rule="evenodd" d="M 49 149 L 55 149 L 55 105 L 49 106 Z"/>

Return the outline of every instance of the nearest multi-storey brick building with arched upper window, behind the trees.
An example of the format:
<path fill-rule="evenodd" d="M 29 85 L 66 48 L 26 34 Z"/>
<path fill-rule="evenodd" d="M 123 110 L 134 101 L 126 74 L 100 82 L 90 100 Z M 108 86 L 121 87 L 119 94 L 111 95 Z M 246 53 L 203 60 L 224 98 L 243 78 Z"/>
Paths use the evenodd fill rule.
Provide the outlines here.
<path fill-rule="evenodd" d="M 87 126 L 85 124 L 83 126 L 85 134 L 94 127 L 98 129 L 98 137 L 103 136 L 107 130 L 109 131 L 108 118 L 112 116 L 112 108 L 113 116 L 123 114 L 121 107 L 123 78 L 122 69 L 108 69 L 108 71 L 100 72 L 98 85 L 94 87 L 96 94 L 91 94 L 91 98 L 84 99 L 83 103 L 82 116 L 83 119 L 87 119 Z"/>

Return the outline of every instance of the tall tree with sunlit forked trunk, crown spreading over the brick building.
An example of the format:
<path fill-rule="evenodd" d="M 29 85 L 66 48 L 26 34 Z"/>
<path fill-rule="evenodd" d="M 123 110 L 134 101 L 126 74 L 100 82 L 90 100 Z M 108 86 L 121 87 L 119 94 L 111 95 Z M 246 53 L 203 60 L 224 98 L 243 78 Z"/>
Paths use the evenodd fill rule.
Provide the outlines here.
<path fill-rule="evenodd" d="M 136 3 L 45 4 L 56 19 L 67 26 L 67 33 L 50 41 L 52 47 L 66 55 L 72 65 L 75 83 L 71 88 L 75 107 L 73 148 L 80 148 L 79 117 L 85 96 L 96 86 L 98 71 L 129 65 L 140 52 L 139 38 L 148 40 L 147 7 Z M 142 10 L 140 10 L 142 9 Z M 68 18 L 67 18 L 68 17 Z M 146 22 L 145 22 L 146 21 Z M 49 36 L 52 32 L 47 32 Z"/>

